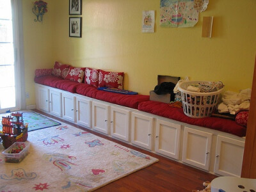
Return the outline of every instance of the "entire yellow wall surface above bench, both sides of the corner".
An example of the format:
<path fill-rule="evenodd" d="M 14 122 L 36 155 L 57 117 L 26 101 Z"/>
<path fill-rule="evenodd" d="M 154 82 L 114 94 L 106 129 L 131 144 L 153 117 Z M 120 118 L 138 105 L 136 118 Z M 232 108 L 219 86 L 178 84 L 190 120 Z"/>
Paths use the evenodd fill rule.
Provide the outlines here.
<path fill-rule="evenodd" d="M 26 92 L 35 93 L 33 70 L 54 61 L 125 72 L 124 88 L 147 95 L 158 74 L 223 81 L 236 92 L 252 87 L 255 0 L 210 1 L 193 28 L 161 28 L 158 0 L 83 0 L 82 38 L 68 37 L 68 0 L 47 2 L 43 24 L 33 22 L 31 1 L 23 3 Z M 143 10 L 156 10 L 155 33 L 141 33 Z M 214 16 L 212 38 L 201 37 L 204 16 Z"/>

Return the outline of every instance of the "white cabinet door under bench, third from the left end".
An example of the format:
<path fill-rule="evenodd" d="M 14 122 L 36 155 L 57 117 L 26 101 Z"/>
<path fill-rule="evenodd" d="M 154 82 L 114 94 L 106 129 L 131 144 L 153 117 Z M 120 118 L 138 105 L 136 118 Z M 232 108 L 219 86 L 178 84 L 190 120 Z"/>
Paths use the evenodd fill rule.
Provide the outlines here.
<path fill-rule="evenodd" d="M 62 93 L 62 118 L 75 122 L 74 95 Z"/>

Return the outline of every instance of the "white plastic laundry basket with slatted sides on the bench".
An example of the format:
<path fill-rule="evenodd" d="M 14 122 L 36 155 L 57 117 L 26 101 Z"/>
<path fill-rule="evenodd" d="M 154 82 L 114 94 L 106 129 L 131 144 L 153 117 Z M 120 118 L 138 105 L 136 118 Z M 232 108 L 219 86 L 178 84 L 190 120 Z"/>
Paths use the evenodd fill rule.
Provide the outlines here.
<path fill-rule="evenodd" d="M 179 90 L 182 98 L 182 106 L 185 115 L 192 118 L 203 118 L 211 116 L 212 111 L 218 104 L 220 93 L 223 88 L 217 92 L 200 93 L 190 92 L 187 89 L 189 85 L 198 83 L 208 83 L 207 81 L 183 81 L 179 84 Z"/>

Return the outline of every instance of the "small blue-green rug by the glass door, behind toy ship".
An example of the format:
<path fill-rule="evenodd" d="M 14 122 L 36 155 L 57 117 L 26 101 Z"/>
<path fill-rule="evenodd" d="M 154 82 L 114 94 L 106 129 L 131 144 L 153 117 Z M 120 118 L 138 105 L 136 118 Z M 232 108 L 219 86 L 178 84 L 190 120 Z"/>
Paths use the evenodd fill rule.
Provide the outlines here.
<path fill-rule="evenodd" d="M 59 122 L 56 122 L 51 118 L 47 118 L 46 116 L 40 115 L 39 113 L 35 113 L 34 111 L 19 111 L 19 112 L 23 113 L 24 123 L 28 123 L 28 131 L 35 131 L 37 129 L 44 129 L 47 127 L 61 125 Z M 0 114 L 0 121 L 2 122 L 2 116 L 8 116 L 10 114 L 11 113 Z M 2 126 L 3 125 L 0 123 L 0 130 L 3 129 Z"/>

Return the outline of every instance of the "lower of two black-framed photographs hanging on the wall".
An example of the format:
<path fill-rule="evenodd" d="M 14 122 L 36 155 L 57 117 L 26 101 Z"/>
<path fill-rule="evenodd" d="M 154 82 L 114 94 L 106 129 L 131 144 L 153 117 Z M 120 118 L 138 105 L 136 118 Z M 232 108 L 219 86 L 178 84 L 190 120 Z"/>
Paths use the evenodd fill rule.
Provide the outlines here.
<path fill-rule="evenodd" d="M 69 17 L 69 36 L 82 37 L 82 17 Z"/>

